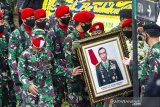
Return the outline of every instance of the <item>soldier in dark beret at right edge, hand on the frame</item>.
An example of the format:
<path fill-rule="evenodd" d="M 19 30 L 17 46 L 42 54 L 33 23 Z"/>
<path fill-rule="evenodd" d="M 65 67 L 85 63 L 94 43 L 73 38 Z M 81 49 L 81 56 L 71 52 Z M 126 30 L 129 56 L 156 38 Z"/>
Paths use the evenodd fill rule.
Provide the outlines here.
<path fill-rule="evenodd" d="M 138 72 L 140 75 L 140 82 L 142 89 L 145 89 L 146 84 L 152 80 L 157 73 L 160 72 L 160 27 L 156 24 L 145 25 L 142 35 L 146 43 L 149 45 L 150 50 L 143 64 L 139 64 Z M 131 65 L 131 59 L 124 58 L 124 64 Z M 141 91 L 143 96 L 144 90 Z"/>

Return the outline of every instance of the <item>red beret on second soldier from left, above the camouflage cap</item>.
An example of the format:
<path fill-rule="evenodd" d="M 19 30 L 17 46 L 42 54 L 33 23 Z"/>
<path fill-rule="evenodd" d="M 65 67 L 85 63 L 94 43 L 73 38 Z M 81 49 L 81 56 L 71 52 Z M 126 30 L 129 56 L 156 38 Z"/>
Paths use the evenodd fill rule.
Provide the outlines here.
<path fill-rule="evenodd" d="M 46 17 L 46 11 L 43 9 L 37 9 L 34 13 L 35 20 L 39 18 L 45 18 Z"/>

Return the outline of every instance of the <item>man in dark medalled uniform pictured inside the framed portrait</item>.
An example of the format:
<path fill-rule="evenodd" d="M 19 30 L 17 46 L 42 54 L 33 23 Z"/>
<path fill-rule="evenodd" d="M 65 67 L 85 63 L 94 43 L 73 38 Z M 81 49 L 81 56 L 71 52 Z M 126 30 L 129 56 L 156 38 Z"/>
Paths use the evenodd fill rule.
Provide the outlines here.
<path fill-rule="evenodd" d="M 123 80 L 117 61 L 107 59 L 107 51 L 104 47 L 98 49 L 98 55 L 101 59 L 101 62 L 96 65 L 99 87 Z"/>

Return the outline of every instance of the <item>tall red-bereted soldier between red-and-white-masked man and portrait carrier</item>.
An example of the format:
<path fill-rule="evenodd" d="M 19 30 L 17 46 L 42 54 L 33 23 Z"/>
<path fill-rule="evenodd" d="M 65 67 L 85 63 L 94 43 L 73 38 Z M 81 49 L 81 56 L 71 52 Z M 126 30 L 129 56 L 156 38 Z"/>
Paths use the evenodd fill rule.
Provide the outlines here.
<path fill-rule="evenodd" d="M 64 39 L 67 37 L 68 32 L 73 30 L 72 27 L 69 27 L 69 22 L 71 20 L 70 10 L 68 6 L 59 6 L 55 12 L 57 18 L 57 23 L 53 28 L 50 28 L 48 32 L 48 42 L 50 49 L 54 54 L 56 63 L 58 65 L 66 68 L 65 52 L 64 52 Z M 55 107 L 61 107 L 62 100 L 65 99 L 66 93 L 66 79 L 61 76 L 56 76 L 53 78 L 54 91 L 56 96 Z"/>

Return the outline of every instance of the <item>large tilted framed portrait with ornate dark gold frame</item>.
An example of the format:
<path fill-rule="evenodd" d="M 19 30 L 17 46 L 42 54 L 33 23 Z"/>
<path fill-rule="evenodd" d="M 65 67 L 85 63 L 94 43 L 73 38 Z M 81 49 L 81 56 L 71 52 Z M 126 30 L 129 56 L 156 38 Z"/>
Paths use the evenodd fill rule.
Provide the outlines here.
<path fill-rule="evenodd" d="M 77 49 L 91 103 L 132 91 L 132 79 L 122 62 L 128 57 L 122 31 L 105 33 L 80 41 Z"/>

